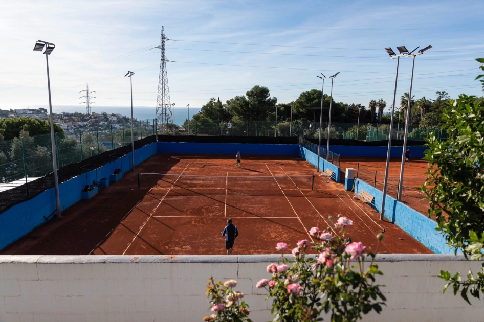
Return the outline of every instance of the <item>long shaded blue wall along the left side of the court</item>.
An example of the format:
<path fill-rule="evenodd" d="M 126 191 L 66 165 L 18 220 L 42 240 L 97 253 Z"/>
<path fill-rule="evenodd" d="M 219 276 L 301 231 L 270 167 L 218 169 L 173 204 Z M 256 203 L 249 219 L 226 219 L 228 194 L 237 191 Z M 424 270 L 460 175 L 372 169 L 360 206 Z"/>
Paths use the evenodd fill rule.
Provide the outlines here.
<path fill-rule="evenodd" d="M 157 152 L 156 143 L 150 143 L 135 150 L 135 165 Z M 81 200 L 81 190 L 88 182 L 99 181 L 122 168 L 123 173 L 131 169 L 131 152 L 126 157 L 105 164 L 97 171 L 88 171 L 59 185 L 60 208 L 62 211 Z M 43 218 L 55 211 L 55 190 L 48 189 L 25 202 L 18 203 L 0 214 L 0 249 L 27 235 L 33 229 L 45 223 Z"/>

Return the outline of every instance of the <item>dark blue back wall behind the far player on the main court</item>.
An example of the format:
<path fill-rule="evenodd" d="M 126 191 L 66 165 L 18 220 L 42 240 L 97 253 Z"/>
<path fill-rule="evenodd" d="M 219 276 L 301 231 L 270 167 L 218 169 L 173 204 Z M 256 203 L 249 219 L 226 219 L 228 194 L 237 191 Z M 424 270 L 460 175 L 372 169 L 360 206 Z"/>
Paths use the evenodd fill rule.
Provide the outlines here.
<path fill-rule="evenodd" d="M 158 153 L 299 155 L 298 144 L 158 142 Z"/>

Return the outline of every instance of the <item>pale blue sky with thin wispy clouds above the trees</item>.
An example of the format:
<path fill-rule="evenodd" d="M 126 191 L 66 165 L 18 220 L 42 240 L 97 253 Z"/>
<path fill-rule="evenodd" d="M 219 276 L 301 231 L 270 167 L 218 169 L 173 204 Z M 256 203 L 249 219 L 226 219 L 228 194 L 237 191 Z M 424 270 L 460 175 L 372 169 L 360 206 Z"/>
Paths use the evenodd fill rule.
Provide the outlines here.
<path fill-rule="evenodd" d="M 415 62 L 415 98 L 445 90 L 482 95 L 474 81 L 484 57 L 484 2 L 376 1 L 22 1 L 2 2 L 0 108 L 47 106 L 45 57 L 37 39 L 53 42 L 50 58 L 56 109 L 83 110 L 89 82 L 102 106 L 156 106 L 161 26 L 167 42 L 171 102 L 200 107 L 225 101 L 253 85 L 278 102 L 320 88 L 331 76 L 336 101 L 367 105 L 393 97 L 395 60 L 384 51 L 432 45 Z M 401 59 L 398 97 L 410 86 L 411 59 Z M 325 82 L 329 93 L 330 82 Z"/>

